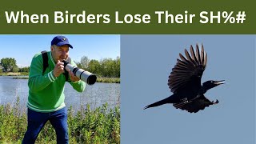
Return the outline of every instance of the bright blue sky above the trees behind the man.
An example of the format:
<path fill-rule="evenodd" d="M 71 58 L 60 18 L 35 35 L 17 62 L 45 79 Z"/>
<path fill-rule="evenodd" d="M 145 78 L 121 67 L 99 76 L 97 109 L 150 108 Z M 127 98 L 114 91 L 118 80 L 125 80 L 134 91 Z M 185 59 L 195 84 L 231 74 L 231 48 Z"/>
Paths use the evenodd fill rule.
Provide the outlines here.
<path fill-rule="evenodd" d="M 51 40 L 58 34 L 0 35 L 0 59 L 15 58 L 17 65 L 30 66 L 34 54 L 50 50 Z M 65 34 L 74 49 L 70 58 L 80 62 L 82 56 L 89 59 L 120 57 L 120 35 Z"/>

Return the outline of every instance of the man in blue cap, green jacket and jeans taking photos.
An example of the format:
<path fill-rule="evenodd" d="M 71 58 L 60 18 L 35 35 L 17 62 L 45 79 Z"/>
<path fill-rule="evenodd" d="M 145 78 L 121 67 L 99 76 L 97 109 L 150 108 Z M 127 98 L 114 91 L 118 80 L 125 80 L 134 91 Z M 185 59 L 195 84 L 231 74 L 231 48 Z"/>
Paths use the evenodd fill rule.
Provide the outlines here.
<path fill-rule="evenodd" d="M 69 82 L 78 92 L 86 87 L 86 83 L 79 80 L 73 72 L 65 72 L 62 61 L 70 59 L 70 48 L 73 46 L 66 37 L 56 36 L 51 41 L 49 52 L 35 54 L 32 59 L 28 81 L 28 124 L 22 141 L 24 144 L 34 143 L 48 120 L 57 134 L 57 143 L 68 143 L 64 85 Z M 71 59 L 70 64 L 76 66 Z"/>

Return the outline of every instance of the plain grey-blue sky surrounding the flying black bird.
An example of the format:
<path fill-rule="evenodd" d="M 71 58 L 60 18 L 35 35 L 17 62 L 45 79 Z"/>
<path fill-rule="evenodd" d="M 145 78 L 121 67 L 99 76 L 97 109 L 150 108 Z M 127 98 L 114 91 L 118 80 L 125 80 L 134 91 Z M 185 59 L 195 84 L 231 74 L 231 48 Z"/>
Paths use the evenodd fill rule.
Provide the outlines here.
<path fill-rule="evenodd" d="M 205 94 L 218 105 L 196 114 L 170 104 L 143 110 L 172 94 L 178 54 L 196 43 L 208 54 L 202 82 L 226 80 Z M 121 55 L 122 144 L 255 143 L 254 36 L 121 35 Z"/>

